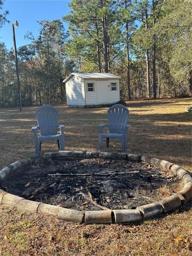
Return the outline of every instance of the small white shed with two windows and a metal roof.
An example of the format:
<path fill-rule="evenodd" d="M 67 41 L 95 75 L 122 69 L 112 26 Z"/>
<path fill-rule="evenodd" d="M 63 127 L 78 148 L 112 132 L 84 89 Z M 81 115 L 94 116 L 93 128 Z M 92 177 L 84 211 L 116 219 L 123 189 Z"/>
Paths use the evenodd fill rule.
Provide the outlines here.
<path fill-rule="evenodd" d="M 112 105 L 120 100 L 119 76 L 108 73 L 72 73 L 66 84 L 68 107 Z"/>

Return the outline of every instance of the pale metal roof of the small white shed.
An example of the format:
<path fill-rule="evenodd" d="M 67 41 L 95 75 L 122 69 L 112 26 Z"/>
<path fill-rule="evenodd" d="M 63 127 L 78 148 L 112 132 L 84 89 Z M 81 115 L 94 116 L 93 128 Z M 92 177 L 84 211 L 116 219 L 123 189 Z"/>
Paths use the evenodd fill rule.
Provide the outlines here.
<path fill-rule="evenodd" d="M 63 80 L 63 82 L 65 83 L 72 76 L 78 76 L 82 79 L 84 79 L 84 78 L 88 78 L 88 79 L 97 79 L 97 78 L 117 79 L 117 78 L 120 78 L 120 76 L 116 76 L 116 75 L 110 74 L 110 73 L 71 73 L 67 78 L 65 78 Z"/>

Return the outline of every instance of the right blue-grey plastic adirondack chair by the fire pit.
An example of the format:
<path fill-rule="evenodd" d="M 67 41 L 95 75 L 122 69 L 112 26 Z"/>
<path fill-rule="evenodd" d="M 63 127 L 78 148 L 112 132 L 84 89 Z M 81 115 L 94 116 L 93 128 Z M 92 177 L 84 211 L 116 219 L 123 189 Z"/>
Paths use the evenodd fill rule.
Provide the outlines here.
<path fill-rule="evenodd" d="M 127 134 L 128 128 L 127 124 L 129 110 L 122 104 L 115 104 L 110 107 L 107 111 L 108 114 L 108 124 L 100 124 L 99 128 L 99 150 L 102 149 L 102 141 L 106 138 L 106 146 L 109 147 L 109 138 L 119 138 L 122 144 L 122 152 L 126 152 L 127 144 Z M 103 128 L 108 127 L 109 132 L 103 133 Z"/>

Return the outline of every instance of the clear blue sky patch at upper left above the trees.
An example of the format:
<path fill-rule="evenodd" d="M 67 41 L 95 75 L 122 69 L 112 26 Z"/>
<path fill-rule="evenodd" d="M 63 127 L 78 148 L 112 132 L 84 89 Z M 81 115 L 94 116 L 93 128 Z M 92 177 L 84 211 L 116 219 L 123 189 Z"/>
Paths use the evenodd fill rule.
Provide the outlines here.
<path fill-rule="evenodd" d="M 36 20 L 54 20 L 60 19 L 66 15 L 70 0 L 5 0 L 2 10 L 8 10 L 8 20 L 0 30 L 0 41 L 6 44 L 7 48 L 13 46 L 12 23 L 18 21 L 19 27 L 15 27 L 15 37 L 17 48 L 28 44 L 28 40 L 24 39 L 25 34 L 30 31 L 34 36 L 38 35 L 39 25 Z M 67 30 L 68 24 L 64 23 Z"/>

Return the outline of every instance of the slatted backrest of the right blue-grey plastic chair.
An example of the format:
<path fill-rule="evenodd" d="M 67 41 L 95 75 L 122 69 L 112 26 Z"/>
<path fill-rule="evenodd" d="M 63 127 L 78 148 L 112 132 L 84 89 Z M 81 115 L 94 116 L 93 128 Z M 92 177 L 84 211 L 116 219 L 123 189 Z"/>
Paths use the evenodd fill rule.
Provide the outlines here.
<path fill-rule="evenodd" d="M 122 104 L 115 104 L 107 111 L 110 133 L 123 133 L 127 124 L 129 110 Z"/>

